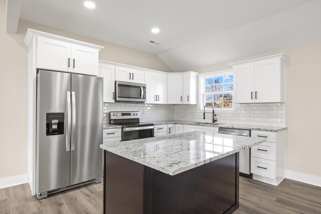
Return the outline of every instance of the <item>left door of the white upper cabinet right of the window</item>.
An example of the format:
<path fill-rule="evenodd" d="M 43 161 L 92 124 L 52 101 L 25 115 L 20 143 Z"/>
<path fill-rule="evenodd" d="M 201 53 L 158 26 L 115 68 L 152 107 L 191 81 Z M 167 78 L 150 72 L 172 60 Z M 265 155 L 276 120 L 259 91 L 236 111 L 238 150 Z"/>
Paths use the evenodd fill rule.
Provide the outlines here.
<path fill-rule="evenodd" d="M 254 103 L 254 63 L 234 68 L 236 75 L 236 103 Z"/>

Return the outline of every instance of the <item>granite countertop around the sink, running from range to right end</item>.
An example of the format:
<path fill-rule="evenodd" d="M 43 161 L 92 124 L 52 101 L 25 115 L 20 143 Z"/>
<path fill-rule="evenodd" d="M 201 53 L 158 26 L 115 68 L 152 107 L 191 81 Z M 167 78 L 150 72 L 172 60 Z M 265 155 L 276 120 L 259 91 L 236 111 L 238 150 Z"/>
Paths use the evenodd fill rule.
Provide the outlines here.
<path fill-rule="evenodd" d="M 156 125 L 165 125 L 165 124 L 184 124 L 184 125 L 194 125 L 194 126 L 208 126 L 208 127 L 224 127 L 224 128 L 243 128 L 257 131 L 280 131 L 283 129 L 287 129 L 287 127 L 280 126 L 258 126 L 258 125 L 236 125 L 236 124 L 224 124 L 224 123 L 200 123 L 200 122 L 192 122 L 192 121 L 181 121 L 181 120 L 167 120 L 167 121 L 150 121 Z"/>

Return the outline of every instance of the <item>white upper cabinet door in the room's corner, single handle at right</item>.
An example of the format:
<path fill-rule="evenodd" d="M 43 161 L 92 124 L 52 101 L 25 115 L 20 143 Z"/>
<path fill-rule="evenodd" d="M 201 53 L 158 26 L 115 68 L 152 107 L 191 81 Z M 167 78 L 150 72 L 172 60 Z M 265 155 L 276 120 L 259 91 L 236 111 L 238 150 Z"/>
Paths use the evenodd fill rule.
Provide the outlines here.
<path fill-rule="evenodd" d="M 183 74 L 169 75 L 169 104 L 183 104 Z"/>

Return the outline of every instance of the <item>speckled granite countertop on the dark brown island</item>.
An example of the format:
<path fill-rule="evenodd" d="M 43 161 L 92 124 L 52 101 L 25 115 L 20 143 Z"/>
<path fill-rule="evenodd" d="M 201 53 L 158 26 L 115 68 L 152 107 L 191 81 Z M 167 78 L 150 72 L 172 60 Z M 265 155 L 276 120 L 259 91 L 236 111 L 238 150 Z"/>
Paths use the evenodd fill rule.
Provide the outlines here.
<path fill-rule="evenodd" d="M 194 131 L 100 145 L 100 148 L 169 175 L 193 169 L 266 141 Z"/>

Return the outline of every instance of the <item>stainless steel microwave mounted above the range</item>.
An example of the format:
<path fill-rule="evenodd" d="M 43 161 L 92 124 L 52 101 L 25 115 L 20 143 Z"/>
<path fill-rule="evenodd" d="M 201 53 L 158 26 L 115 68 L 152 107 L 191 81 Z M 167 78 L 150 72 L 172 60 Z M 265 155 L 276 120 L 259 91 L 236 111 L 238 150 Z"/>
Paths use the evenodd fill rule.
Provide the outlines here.
<path fill-rule="evenodd" d="M 146 84 L 115 81 L 116 102 L 146 102 Z"/>

